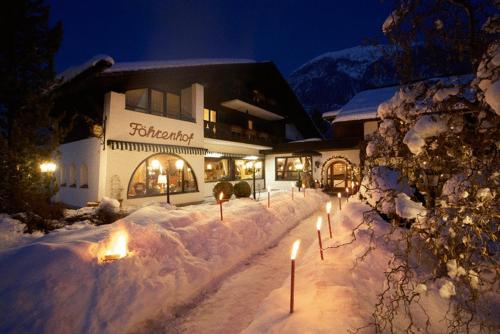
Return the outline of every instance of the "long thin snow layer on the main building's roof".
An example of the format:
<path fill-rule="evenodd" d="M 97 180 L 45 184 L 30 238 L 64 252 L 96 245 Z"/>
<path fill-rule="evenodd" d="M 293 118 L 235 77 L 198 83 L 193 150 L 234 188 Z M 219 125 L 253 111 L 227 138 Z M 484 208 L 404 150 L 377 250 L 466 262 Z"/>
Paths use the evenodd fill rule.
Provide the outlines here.
<path fill-rule="evenodd" d="M 231 59 L 231 58 L 212 58 L 212 59 L 183 59 L 167 61 L 137 61 L 116 63 L 110 68 L 104 70 L 106 73 L 157 70 L 174 67 L 192 67 L 208 65 L 229 65 L 229 64 L 248 64 L 255 63 L 252 59 Z"/>

